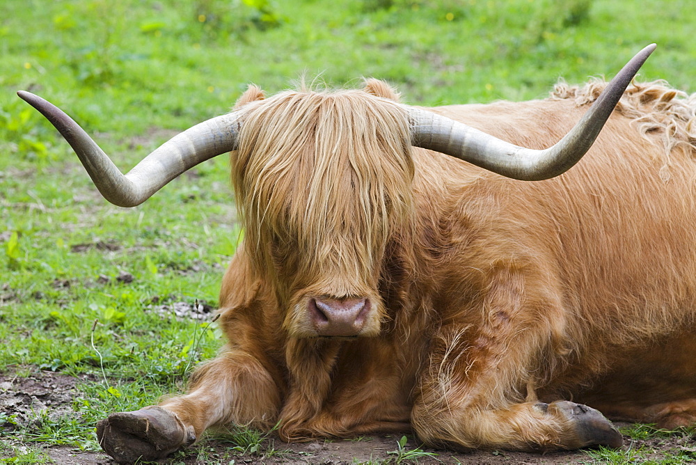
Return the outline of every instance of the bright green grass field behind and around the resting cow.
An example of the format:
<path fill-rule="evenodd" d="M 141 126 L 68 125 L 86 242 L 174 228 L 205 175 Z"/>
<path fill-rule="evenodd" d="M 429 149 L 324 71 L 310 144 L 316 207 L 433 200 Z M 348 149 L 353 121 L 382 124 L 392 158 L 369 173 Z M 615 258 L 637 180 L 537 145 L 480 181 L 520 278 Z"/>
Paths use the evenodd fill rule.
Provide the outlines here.
<path fill-rule="evenodd" d="M 686 0 L 3 0 L 0 461 L 50 462 L 49 445 L 97 452 L 96 420 L 179 391 L 221 345 L 207 312 L 243 234 L 225 157 L 140 207 L 114 207 L 17 90 L 68 111 L 127 171 L 227 111 L 251 82 L 274 93 L 303 77 L 329 86 L 379 77 L 412 104 L 525 100 L 559 77 L 610 76 L 657 42 L 640 79 L 693 92 L 695 24 Z M 50 392 L 22 379 L 66 396 L 47 403 Z M 567 460 L 696 459 L 691 432 L 624 433 L 640 448 Z M 263 448 L 228 440 L 227 455 L 210 452 L 211 440 L 174 461 L 273 461 L 268 439 Z M 415 458 L 424 456 L 383 459 Z"/>

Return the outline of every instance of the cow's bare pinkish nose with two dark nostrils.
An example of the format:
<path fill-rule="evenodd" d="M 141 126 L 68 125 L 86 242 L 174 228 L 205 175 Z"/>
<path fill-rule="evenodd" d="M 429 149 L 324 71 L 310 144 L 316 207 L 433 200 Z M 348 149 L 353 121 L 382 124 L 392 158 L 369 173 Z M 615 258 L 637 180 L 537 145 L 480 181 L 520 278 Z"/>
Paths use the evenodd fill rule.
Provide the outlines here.
<path fill-rule="evenodd" d="M 317 297 L 310 299 L 308 306 L 319 336 L 357 336 L 370 312 L 370 301 L 365 298 Z"/>

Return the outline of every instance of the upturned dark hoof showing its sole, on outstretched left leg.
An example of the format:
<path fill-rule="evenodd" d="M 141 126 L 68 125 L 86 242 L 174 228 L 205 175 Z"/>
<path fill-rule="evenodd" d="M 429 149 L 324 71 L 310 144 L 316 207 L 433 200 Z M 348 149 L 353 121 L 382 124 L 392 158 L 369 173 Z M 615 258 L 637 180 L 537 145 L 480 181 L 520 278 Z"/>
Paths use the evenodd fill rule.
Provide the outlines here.
<path fill-rule="evenodd" d="M 97 439 L 118 463 L 166 457 L 196 441 L 193 427 L 160 407 L 112 413 L 97 423 Z"/>

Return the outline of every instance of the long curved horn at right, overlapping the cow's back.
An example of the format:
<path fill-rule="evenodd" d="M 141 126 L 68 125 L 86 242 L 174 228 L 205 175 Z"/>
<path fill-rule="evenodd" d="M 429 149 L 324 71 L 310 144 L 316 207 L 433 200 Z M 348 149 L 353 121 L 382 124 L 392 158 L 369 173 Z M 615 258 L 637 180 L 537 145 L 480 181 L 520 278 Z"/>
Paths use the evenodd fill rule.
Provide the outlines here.
<path fill-rule="evenodd" d="M 501 141 L 473 127 L 422 109 L 409 109 L 411 143 L 469 161 L 489 171 L 524 181 L 560 175 L 590 150 L 614 107 L 656 45 L 642 49 L 612 79 L 590 110 L 555 145 L 532 150 Z"/>

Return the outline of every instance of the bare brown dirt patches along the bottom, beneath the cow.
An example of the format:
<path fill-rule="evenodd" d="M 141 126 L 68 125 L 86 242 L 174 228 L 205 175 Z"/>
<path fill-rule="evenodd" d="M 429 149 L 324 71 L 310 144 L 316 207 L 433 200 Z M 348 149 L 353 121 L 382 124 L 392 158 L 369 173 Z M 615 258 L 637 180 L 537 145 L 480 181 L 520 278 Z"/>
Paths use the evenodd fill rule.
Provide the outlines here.
<path fill-rule="evenodd" d="M 18 425 L 27 425 L 35 421 L 37 414 L 45 411 L 49 418 L 57 418 L 66 413 L 74 413 L 70 402 L 77 395 L 75 386 L 87 377 L 76 378 L 53 372 L 38 372 L 30 377 L 15 377 L 0 375 L 0 416 L 15 416 Z M 4 432 L 12 425 L 0 424 L 0 441 Z M 3 431 L 3 428 L 5 430 Z M 269 439 L 264 443 L 264 449 L 256 455 L 242 454 L 232 450 L 229 443 L 208 441 L 203 445 L 194 446 L 186 455 L 177 455 L 160 463 L 171 464 L 354 464 L 362 462 L 379 463 L 397 458 L 393 452 L 397 450 L 397 436 L 372 436 L 353 441 L 315 441 L 310 443 L 287 444 L 279 439 Z M 19 451 L 32 444 L 13 442 Z M 404 450 L 418 448 L 419 444 L 409 439 Z M 694 448 L 693 440 L 683 437 L 667 439 L 649 439 L 635 441 L 624 437 L 624 448 L 649 448 L 653 451 L 647 457 L 660 461 L 663 453 L 675 450 L 690 450 Z M 269 452 L 274 450 L 275 452 Z M 475 451 L 458 453 L 448 450 L 423 449 L 434 452 L 436 457 L 417 457 L 418 463 L 444 464 L 577 464 L 589 463 L 592 459 L 585 452 L 551 452 L 544 455 L 507 451 Z M 58 464 L 111 464 L 108 456 L 100 452 L 84 452 L 65 446 L 45 446 L 45 455 Z M 8 458 L 8 450 L 0 449 L 0 462 Z"/>

